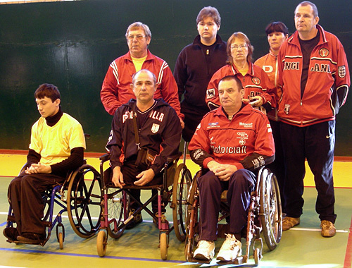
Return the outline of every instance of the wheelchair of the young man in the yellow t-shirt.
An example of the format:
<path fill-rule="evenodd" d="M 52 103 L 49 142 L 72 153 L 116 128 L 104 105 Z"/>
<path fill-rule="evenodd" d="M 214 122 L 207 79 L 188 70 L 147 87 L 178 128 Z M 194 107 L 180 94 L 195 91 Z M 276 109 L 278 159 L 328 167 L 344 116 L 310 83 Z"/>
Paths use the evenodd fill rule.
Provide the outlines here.
<path fill-rule="evenodd" d="M 20 173 L 27 168 L 23 166 Z M 93 166 L 84 164 L 75 171 L 68 173 L 64 183 L 53 185 L 42 193 L 44 203 L 44 225 L 46 226 L 46 238 L 37 245 L 44 246 L 51 236 L 51 231 L 56 226 L 56 238 L 60 249 L 63 249 L 65 240 L 65 228 L 62 214 L 68 212 L 68 219 L 73 231 L 81 238 L 90 238 L 99 230 L 101 214 L 101 178 Z M 59 212 L 55 216 L 55 204 Z M 95 215 L 95 217 L 94 217 Z M 8 210 L 6 227 L 14 227 L 15 217 L 11 206 Z M 18 240 L 7 240 L 9 243 L 32 244 Z"/>

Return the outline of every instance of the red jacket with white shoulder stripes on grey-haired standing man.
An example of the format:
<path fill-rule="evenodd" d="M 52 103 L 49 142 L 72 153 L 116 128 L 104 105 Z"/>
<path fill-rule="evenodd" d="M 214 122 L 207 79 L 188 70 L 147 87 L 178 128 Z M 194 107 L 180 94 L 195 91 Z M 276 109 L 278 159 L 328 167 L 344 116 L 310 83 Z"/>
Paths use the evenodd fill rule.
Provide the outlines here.
<path fill-rule="evenodd" d="M 142 69 L 147 69 L 156 75 L 158 87 L 154 93 L 154 99 L 163 98 L 175 109 L 177 116 L 183 119 L 177 84 L 168 63 L 148 50 Z M 110 64 L 100 92 L 101 102 L 109 114 L 113 115 L 122 104 L 136 98 L 130 87 L 134 73 L 136 73 L 136 68 L 134 68 L 130 51 Z"/>

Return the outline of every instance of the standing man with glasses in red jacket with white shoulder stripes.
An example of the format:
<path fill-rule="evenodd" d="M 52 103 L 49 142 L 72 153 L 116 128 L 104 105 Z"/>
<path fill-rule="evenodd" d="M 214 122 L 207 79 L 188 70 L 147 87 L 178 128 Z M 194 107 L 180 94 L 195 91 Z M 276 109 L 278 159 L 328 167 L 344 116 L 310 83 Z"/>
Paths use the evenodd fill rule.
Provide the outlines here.
<path fill-rule="evenodd" d="M 101 87 L 101 102 L 106 111 L 113 115 L 122 104 L 136 98 L 130 87 L 132 75 L 147 69 L 157 78 L 154 99 L 163 98 L 168 102 L 175 109 L 183 127 L 184 116 L 181 114 L 175 78 L 168 63 L 149 51 L 151 30 L 148 25 L 140 22 L 132 23 L 127 28 L 126 39 L 130 51 L 110 64 Z"/>

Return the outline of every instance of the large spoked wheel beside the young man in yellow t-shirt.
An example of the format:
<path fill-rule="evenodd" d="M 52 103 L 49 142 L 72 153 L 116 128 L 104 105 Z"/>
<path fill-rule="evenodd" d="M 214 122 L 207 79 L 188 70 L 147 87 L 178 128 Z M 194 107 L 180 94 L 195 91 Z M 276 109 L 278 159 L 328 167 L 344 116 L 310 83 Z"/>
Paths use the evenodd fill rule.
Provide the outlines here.
<path fill-rule="evenodd" d="M 82 238 L 94 236 L 102 208 L 100 174 L 93 166 L 85 164 L 70 176 L 67 207 L 73 231 Z"/>

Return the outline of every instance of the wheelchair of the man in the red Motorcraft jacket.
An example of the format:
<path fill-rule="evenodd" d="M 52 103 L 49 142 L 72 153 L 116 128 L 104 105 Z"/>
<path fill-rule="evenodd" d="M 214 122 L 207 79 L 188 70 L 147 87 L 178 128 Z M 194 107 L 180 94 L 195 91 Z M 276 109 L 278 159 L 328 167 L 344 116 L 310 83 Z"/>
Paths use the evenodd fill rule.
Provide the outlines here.
<path fill-rule="evenodd" d="M 191 183 L 187 197 L 187 238 L 184 247 L 184 255 L 189 262 L 201 262 L 193 258 L 194 246 L 199 242 L 199 189 L 197 178 L 203 171 L 198 171 Z M 218 237 L 224 238 L 224 233 L 230 226 L 222 222 L 229 219 L 229 205 L 226 200 L 227 191 L 222 192 L 220 204 L 220 217 L 218 218 Z M 256 189 L 251 193 L 251 202 L 248 209 L 246 232 L 242 234 L 246 238 L 246 253 L 232 262 L 233 264 L 246 263 L 249 260 L 251 243 L 253 243 L 253 258 L 256 266 L 263 257 L 263 240 L 269 250 L 274 250 L 282 236 L 282 208 L 279 193 L 279 185 L 274 173 L 262 167 L 258 171 Z M 209 261 L 210 262 L 210 261 Z"/>

